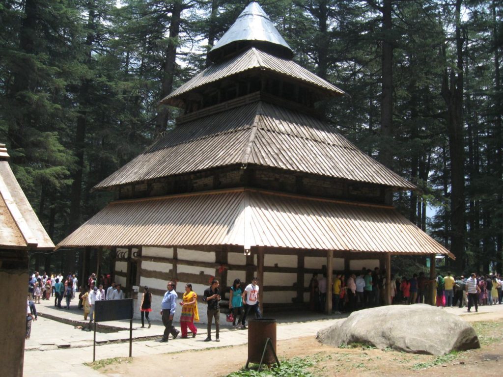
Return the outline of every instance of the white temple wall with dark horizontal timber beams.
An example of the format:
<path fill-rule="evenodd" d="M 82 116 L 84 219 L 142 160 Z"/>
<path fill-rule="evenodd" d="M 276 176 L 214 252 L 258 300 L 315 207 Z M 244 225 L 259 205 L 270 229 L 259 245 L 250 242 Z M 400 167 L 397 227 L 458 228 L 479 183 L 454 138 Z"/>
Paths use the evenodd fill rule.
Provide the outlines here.
<path fill-rule="evenodd" d="M 127 250 L 127 249 L 126 249 Z M 138 264 L 139 281 L 137 285 L 140 287 L 137 300 L 135 302 L 135 318 L 140 318 L 139 300 L 143 287 L 148 286 L 152 293 L 152 313 L 150 317 L 154 320 L 160 320 L 159 314 L 160 305 L 164 293 L 166 292 L 166 283 L 168 280 L 174 280 L 177 284 L 176 292 L 179 294 L 179 301 L 185 292 L 185 284 L 190 282 L 194 292 L 198 295 L 199 310 L 201 323 L 207 323 L 206 304 L 202 302 L 202 295 L 206 288 L 211 284 L 211 280 L 216 276 L 220 279 L 221 288 L 226 287 L 223 297 L 228 299 L 228 288 L 232 286 L 235 278 L 239 278 L 244 286 L 250 281 L 246 281 L 246 260 L 247 257 L 243 253 L 228 252 L 226 255 L 226 263 L 228 268 L 221 270 L 217 258 L 218 255 L 225 251 L 201 251 L 185 248 L 162 248 L 162 247 L 143 247 L 141 249 L 141 262 Z M 304 256 L 304 268 L 310 270 L 304 273 L 304 289 L 302 294 L 303 301 L 309 301 L 309 281 L 312 277 L 312 272 L 318 272 L 318 277 L 321 277 L 321 271 L 326 266 L 326 257 L 319 256 Z M 249 258 L 249 257 L 248 257 Z M 361 258 L 361 256 L 360 256 Z M 253 255 L 254 267 L 251 267 L 251 274 L 256 275 L 255 269 L 257 266 L 257 255 Z M 260 282 L 261 289 L 264 289 L 264 304 L 292 304 L 297 302 L 298 290 L 297 284 L 299 259 L 296 254 L 272 254 L 264 255 L 264 281 Z M 379 266 L 379 259 L 350 259 L 348 261 L 350 269 L 353 271 L 360 270 L 363 266 L 373 269 Z M 344 271 L 345 258 L 333 258 L 333 270 Z M 248 266 L 249 268 L 249 266 Z M 276 269 L 278 271 L 276 271 Z M 123 260 L 116 261 L 116 282 L 126 284 L 127 262 Z M 248 270 L 249 271 L 249 270 Z M 348 272 L 348 271 L 347 271 Z M 250 273 L 250 272 L 248 272 Z M 327 288 L 329 292 L 329 288 Z M 221 315 L 221 325 L 226 326 L 225 314 Z M 180 319 L 180 307 L 177 306 L 175 321 Z"/>

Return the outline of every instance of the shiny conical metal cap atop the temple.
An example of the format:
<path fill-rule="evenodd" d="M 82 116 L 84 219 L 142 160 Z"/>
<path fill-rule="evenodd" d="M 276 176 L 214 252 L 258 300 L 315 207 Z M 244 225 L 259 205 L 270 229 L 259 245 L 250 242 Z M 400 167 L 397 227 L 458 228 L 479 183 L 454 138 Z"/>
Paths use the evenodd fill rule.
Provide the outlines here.
<path fill-rule="evenodd" d="M 246 6 L 230 29 L 208 52 L 208 57 L 216 62 L 249 47 L 267 50 L 288 59 L 293 57 L 292 49 L 257 2 Z"/>

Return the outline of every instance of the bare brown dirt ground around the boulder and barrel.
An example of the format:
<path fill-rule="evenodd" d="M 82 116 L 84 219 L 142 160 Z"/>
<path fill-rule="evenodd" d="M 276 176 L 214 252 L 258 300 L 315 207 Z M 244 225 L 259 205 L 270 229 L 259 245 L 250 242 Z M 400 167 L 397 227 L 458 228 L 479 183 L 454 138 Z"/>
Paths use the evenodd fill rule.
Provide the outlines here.
<path fill-rule="evenodd" d="M 318 343 L 314 336 L 277 344 L 280 361 L 306 357 L 314 361 L 307 368 L 315 376 L 460 376 L 501 375 L 503 366 L 503 313 L 463 316 L 477 331 L 481 348 L 446 356 L 416 355 L 372 347 L 333 348 Z M 503 311 L 502 311 L 503 312 Z M 418 324 L 421 326 L 421 324 Z M 439 339 L 441 341 L 441 339 Z M 186 351 L 122 359 L 98 369 L 108 377 L 168 374 L 176 377 L 224 376 L 244 366 L 247 345 Z M 174 372 L 176 371 L 176 372 Z M 299 374 L 301 375 L 301 374 Z"/>

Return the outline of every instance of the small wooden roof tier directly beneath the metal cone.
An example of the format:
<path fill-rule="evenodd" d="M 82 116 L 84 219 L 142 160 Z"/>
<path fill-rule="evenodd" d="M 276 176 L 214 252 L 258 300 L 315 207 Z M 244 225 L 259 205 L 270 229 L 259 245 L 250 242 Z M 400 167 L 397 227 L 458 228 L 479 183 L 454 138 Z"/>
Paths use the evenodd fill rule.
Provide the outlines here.
<path fill-rule="evenodd" d="M 323 91 L 326 96 L 344 95 L 343 90 L 316 76 L 293 60 L 279 58 L 252 47 L 229 60 L 210 65 L 191 80 L 174 90 L 170 95 L 166 96 L 161 103 L 182 106 L 183 102 L 179 98 L 183 97 L 187 92 L 211 82 L 250 70 L 270 71 L 289 77 L 309 86 L 314 86 L 318 90 Z"/>

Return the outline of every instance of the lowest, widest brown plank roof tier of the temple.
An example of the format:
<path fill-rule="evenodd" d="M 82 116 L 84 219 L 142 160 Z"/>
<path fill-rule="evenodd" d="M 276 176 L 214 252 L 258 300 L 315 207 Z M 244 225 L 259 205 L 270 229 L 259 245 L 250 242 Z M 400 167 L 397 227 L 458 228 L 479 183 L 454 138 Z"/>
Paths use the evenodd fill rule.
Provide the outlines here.
<path fill-rule="evenodd" d="M 234 245 L 454 255 L 391 206 L 237 188 L 110 203 L 58 247 Z"/>

